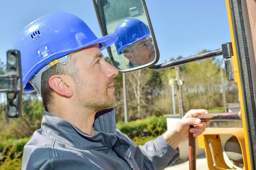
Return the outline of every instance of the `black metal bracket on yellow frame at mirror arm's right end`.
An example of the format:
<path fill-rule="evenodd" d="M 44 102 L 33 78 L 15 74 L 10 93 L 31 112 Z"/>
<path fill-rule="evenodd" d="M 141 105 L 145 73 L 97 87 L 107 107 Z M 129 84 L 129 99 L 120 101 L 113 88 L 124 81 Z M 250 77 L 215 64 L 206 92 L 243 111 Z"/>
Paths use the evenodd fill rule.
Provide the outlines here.
<path fill-rule="evenodd" d="M 221 47 L 222 47 L 222 54 L 224 58 L 225 69 L 227 73 L 227 79 L 234 80 L 234 71 L 233 71 L 233 66 L 231 62 L 231 57 L 233 56 L 232 43 L 231 42 L 224 43 L 221 45 Z"/>

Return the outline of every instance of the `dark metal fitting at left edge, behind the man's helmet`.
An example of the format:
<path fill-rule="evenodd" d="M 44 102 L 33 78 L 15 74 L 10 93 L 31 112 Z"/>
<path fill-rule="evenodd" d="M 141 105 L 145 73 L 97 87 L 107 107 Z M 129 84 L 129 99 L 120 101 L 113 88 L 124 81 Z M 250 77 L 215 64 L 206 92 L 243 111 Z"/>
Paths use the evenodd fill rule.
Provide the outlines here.
<path fill-rule="evenodd" d="M 6 74 L 0 75 L 0 93 L 7 94 L 7 116 L 20 117 L 22 105 L 20 51 L 7 51 Z"/>

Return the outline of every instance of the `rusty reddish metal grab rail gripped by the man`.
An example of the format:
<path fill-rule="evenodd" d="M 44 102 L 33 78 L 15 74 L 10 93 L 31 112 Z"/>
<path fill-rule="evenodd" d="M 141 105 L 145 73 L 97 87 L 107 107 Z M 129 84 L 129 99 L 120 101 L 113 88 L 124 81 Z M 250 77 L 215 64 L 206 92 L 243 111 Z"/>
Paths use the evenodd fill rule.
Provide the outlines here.
<path fill-rule="evenodd" d="M 241 120 L 241 111 L 239 112 L 227 112 L 227 113 L 207 113 L 196 118 L 205 121 L 227 121 L 227 120 Z M 193 127 L 192 125 L 190 128 Z M 189 170 L 196 170 L 196 149 L 195 149 L 195 137 L 193 133 L 189 132 Z"/>

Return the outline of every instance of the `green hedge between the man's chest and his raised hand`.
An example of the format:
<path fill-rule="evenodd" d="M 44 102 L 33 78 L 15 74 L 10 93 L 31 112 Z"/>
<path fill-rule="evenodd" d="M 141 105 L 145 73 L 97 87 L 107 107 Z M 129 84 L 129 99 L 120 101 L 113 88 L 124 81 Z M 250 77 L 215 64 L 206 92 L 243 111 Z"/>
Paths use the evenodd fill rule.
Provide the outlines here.
<path fill-rule="evenodd" d="M 167 130 L 166 117 L 151 116 L 147 119 L 137 119 L 125 124 L 119 121 L 116 128 L 125 133 L 129 138 L 134 139 L 140 136 L 159 136 Z"/>

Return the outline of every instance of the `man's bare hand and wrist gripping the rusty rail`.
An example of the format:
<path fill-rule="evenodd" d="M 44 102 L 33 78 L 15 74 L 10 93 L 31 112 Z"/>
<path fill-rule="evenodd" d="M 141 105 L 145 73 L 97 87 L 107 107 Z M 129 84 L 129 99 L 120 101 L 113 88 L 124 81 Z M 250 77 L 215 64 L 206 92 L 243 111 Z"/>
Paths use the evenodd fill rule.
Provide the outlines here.
<path fill-rule="evenodd" d="M 201 135 L 210 122 L 201 122 L 200 119 L 195 117 L 205 113 L 208 113 L 208 111 L 204 109 L 188 111 L 172 129 L 167 130 L 167 132 L 163 134 L 166 142 L 176 149 L 183 139 L 189 138 L 189 132 L 193 133 L 193 136 Z M 190 128 L 190 125 L 194 125 L 194 127 Z"/>

